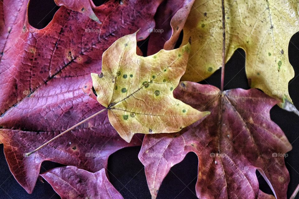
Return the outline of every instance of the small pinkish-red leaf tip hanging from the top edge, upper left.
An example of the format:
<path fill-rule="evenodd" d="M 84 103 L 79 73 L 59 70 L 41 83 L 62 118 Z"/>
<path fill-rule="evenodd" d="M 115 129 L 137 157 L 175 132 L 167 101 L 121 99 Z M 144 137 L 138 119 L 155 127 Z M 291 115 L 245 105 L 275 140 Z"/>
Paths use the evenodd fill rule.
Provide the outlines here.
<path fill-rule="evenodd" d="M 102 23 L 93 12 L 96 7 L 92 0 L 54 0 L 57 6 L 65 6 L 71 10 L 81 12 L 98 23 Z"/>

